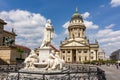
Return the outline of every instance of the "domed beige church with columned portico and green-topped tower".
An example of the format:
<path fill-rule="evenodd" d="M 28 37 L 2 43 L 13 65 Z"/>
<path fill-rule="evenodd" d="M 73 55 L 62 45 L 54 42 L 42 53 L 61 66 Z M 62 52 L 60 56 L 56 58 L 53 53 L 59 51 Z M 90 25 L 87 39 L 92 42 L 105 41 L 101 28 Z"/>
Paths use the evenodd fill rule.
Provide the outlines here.
<path fill-rule="evenodd" d="M 66 63 L 83 63 L 98 60 L 99 44 L 97 40 L 90 44 L 85 35 L 86 26 L 76 9 L 68 26 L 68 38 L 60 43 L 60 55 Z"/>

